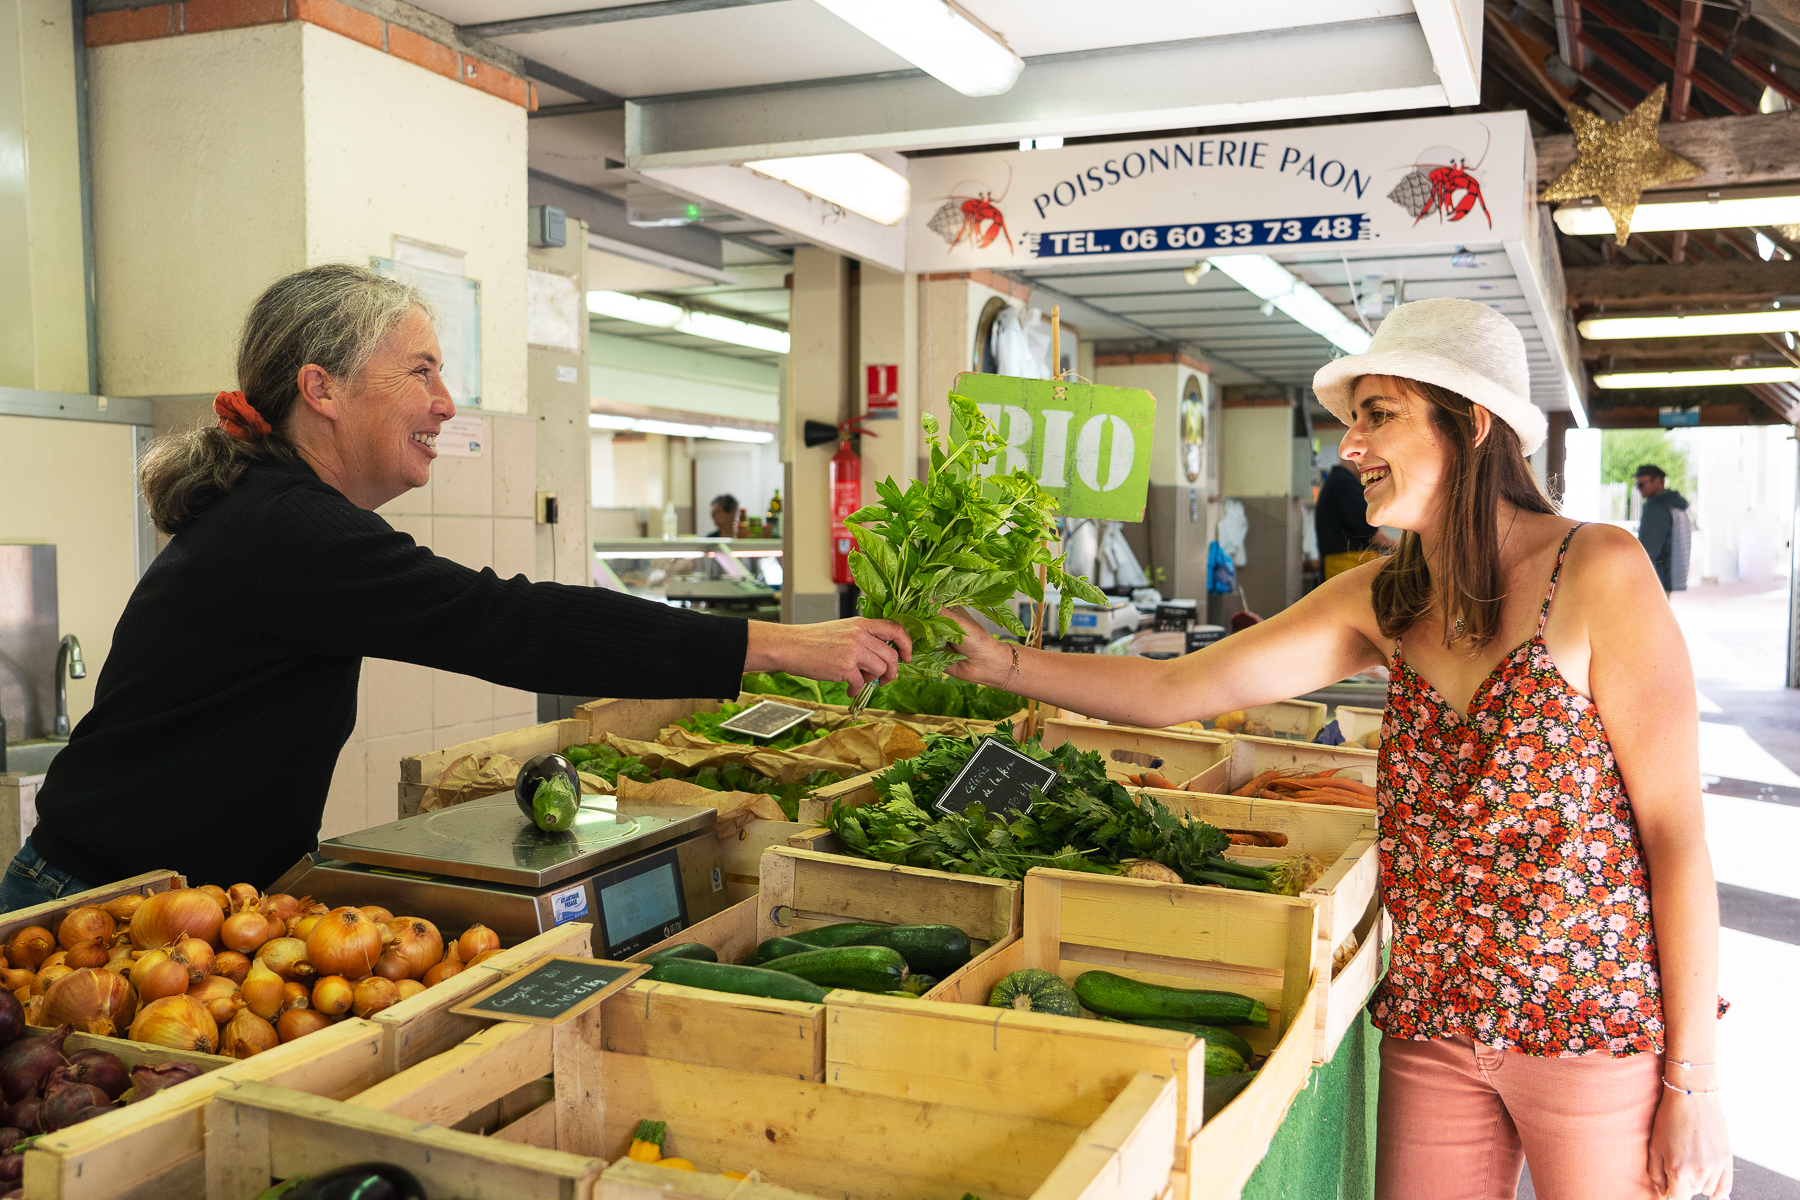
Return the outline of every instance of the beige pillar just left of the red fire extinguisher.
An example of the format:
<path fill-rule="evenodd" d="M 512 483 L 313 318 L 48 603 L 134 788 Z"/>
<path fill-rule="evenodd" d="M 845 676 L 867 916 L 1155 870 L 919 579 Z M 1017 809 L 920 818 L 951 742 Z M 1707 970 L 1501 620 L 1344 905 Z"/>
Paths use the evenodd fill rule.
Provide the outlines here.
<path fill-rule="evenodd" d="M 794 624 L 837 619 L 832 583 L 832 495 L 828 464 L 835 443 L 806 448 L 805 423 L 837 425 L 850 414 L 850 259 L 830 250 L 794 252 L 792 336 L 783 396 L 785 486 L 781 488 L 781 619 Z"/>

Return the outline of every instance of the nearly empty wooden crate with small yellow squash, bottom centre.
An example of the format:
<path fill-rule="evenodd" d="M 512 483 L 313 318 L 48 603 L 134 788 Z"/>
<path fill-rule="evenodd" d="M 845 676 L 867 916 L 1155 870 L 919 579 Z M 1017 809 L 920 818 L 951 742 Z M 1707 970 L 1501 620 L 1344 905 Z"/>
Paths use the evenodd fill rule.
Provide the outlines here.
<path fill-rule="evenodd" d="M 702 1173 L 617 1160 L 601 1200 L 1161 1200 L 1174 1160 L 1174 1079 L 1141 1072 L 1091 1123 L 1044 1121 L 1006 1087 L 954 1105 L 824 1083 L 607 1054 L 607 1139 L 623 1153 L 637 1119 L 668 1123 L 670 1153 Z M 733 1182 L 711 1171 L 758 1171 Z"/>

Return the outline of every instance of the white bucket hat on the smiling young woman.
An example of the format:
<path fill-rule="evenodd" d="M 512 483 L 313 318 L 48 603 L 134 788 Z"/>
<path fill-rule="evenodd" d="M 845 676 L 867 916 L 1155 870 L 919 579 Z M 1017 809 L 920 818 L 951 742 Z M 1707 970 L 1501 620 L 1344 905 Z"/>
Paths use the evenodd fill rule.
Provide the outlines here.
<path fill-rule="evenodd" d="M 1364 374 L 1436 383 L 1510 425 L 1525 453 L 1544 444 L 1550 423 L 1530 399 L 1525 338 L 1487 304 L 1451 297 L 1402 304 L 1381 322 L 1366 353 L 1319 367 L 1312 390 L 1334 417 L 1355 425 L 1350 394 Z"/>

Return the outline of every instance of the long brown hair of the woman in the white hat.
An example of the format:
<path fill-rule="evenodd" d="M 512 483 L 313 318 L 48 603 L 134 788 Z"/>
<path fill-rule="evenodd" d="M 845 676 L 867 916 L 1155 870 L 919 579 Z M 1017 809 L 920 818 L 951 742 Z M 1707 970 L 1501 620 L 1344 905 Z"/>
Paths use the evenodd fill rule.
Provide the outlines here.
<path fill-rule="evenodd" d="M 1499 608 L 1507 599 L 1499 569 L 1499 502 L 1550 516 L 1557 509 L 1532 473 L 1510 425 L 1494 417 L 1487 437 L 1476 444 L 1474 403 L 1467 396 L 1420 380 L 1400 383 L 1427 403 L 1431 425 L 1449 457 L 1438 500 L 1438 570 L 1433 576 L 1418 534 L 1406 533 L 1375 572 L 1370 599 L 1382 637 L 1400 637 L 1438 608 L 1444 613 L 1444 644 L 1465 642 L 1472 655 L 1499 635 Z M 1458 621 L 1463 622 L 1462 637 L 1454 635 Z"/>

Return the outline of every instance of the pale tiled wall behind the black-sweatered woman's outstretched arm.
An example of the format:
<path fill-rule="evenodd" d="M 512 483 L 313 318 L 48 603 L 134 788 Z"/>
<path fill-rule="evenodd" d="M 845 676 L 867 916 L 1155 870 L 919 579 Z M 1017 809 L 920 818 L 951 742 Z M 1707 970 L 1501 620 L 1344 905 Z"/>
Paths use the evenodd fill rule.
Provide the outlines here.
<path fill-rule="evenodd" d="M 432 482 L 385 504 L 400 533 L 464 567 L 500 578 L 533 572 L 535 417 L 481 414 L 488 425 L 479 459 L 441 457 Z M 468 675 L 367 658 L 356 730 L 338 756 L 320 838 L 400 817 L 400 759 L 536 723 L 538 698 Z"/>

